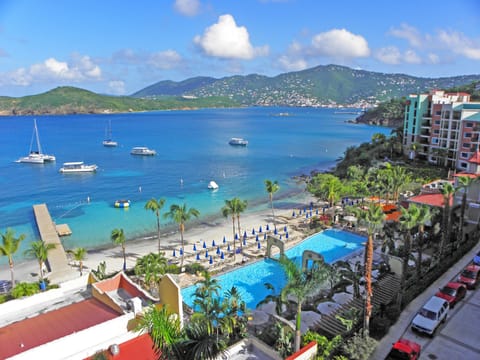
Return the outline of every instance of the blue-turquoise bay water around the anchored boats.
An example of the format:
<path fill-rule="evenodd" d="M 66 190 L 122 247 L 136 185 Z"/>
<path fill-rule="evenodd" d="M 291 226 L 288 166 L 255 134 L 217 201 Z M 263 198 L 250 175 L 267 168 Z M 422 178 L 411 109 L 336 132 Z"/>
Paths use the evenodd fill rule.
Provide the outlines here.
<path fill-rule="evenodd" d="M 276 206 L 288 206 L 281 198 L 303 191 L 295 175 L 328 169 L 347 147 L 369 141 L 376 132 L 390 133 L 346 122 L 354 117 L 311 108 L 36 116 L 43 152 L 57 157 L 44 165 L 15 162 L 29 152 L 34 117 L 0 117 L 0 231 L 11 227 L 26 235 L 18 260 L 28 243 L 39 239 L 32 210 L 38 203 L 47 204 L 56 223 L 72 229 L 63 240 L 66 248 L 109 244 L 114 228 L 123 228 L 128 239 L 155 232 L 156 218 L 143 208 L 152 197 L 167 200 L 164 212 L 171 204 L 186 203 L 200 211 L 201 219 L 220 217 L 224 200 L 234 196 L 248 200 L 250 211 L 267 206 L 264 180 L 271 179 L 281 187 Z M 102 146 L 109 122 L 116 148 Z M 231 137 L 248 139 L 248 147 L 228 145 Z M 157 156 L 132 156 L 134 146 L 155 149 Z M 69 161 L 99 169 L 60 174 Z M 218 190 L 207 189 L 210 180 Z M 131 208 L 114 208 L 115 200 L 124 198 Z M 173 225 L 162 219 L 165 229 Z"/>

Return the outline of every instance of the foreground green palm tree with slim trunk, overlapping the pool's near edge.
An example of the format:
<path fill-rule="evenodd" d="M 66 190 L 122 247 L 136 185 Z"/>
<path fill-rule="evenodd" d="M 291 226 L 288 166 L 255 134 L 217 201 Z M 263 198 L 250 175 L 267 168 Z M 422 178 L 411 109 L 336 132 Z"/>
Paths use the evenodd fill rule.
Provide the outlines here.
<path fill-rule="evenodd" d="M 327 278 L 324 267 L 314 267 L 311 270 L 303 270 L 286 256 L 280 257 L 280 265 L 285 271 L 287 283 L 282 289 L 282 297 L 293 296 L 297 303 L 297 315 L 295 319 L 295 351 L 300 349 L 302 305 L 307 296 L 323 283 Z"/>

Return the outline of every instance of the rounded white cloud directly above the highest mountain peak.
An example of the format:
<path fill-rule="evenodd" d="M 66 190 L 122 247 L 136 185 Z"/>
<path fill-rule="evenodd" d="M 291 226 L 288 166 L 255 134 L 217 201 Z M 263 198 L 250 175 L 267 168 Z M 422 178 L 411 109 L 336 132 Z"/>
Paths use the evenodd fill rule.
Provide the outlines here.
<path fill-rule="evenodd" d="M 370 55 L 367 40 L 345 29 L 333 29 L 315 35 L 312 39 L 312 47 L 316 54 L 334 58 L 357 58 Z"/>

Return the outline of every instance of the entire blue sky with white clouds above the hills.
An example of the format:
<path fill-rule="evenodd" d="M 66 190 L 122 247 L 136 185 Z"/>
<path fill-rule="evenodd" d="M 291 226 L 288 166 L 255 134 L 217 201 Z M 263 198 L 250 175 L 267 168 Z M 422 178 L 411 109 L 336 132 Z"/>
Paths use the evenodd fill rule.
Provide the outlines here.
<path fill-rule="evenodd" d="M 480 1 L 0 0 L 0 96 L 328 64 L 480 74 Z"/>

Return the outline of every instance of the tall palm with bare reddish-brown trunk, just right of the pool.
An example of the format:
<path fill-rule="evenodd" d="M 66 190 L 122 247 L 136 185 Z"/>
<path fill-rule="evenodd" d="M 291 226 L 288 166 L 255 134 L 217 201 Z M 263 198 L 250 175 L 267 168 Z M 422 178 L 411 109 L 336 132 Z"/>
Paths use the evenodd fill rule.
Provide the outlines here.
<path fill-rule="evenodd" d="M 367 242 L 365 244 L 365 323 L 364 333 L 368 335 L 370 317 L 372 315 L 372 265 L 373 265 L 373 238 L 375 233 L 383 227 L 385 213 L 381 206 L 371 203 L 367 210 L 357 209 L 359 223 L 367 227 Z"/>

